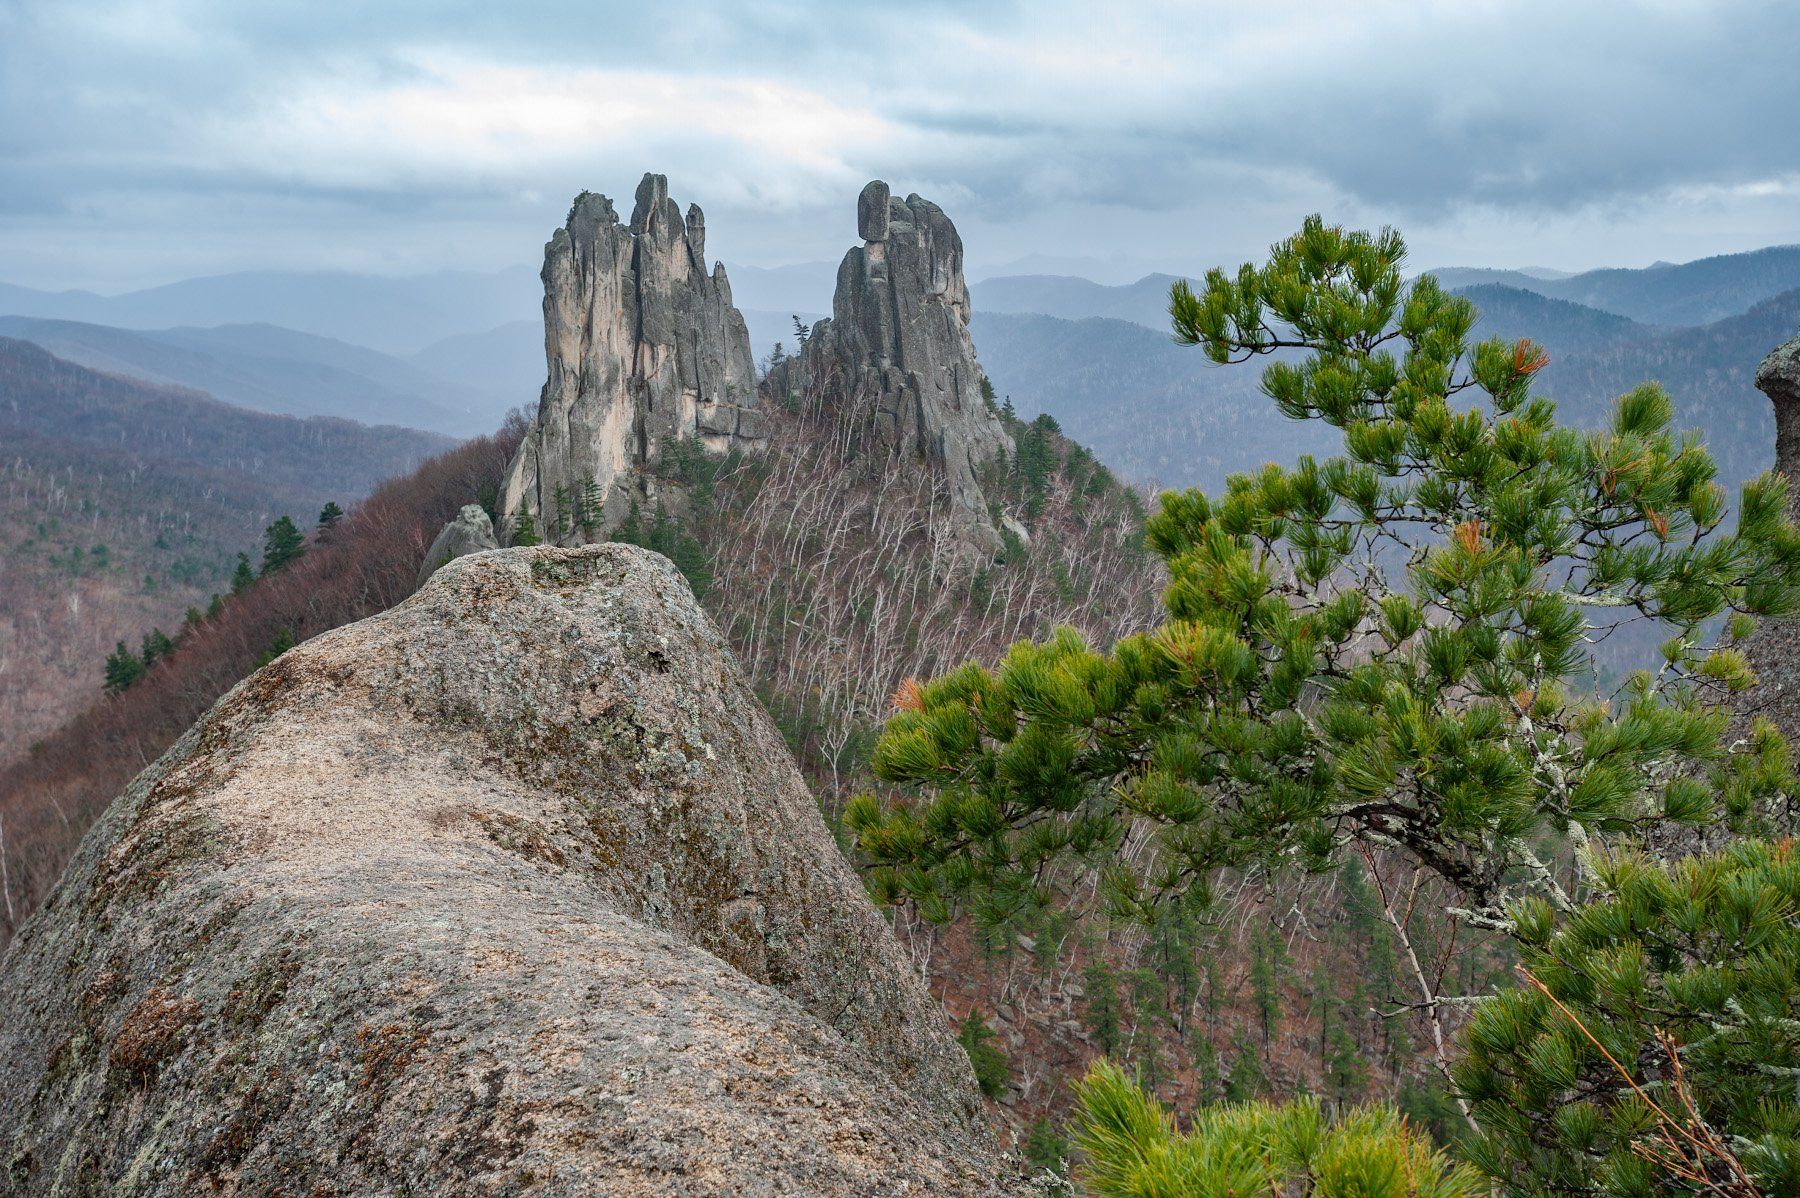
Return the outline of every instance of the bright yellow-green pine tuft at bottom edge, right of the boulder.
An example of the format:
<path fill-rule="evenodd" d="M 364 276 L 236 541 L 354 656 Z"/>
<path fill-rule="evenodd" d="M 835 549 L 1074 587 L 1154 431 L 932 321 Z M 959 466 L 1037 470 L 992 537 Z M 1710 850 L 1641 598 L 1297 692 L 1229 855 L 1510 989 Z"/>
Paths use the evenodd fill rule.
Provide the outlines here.
<path fill-rule="evenodd" d="M 1111 1061 L 1080 1083 L 1076 1178 L 1096 1198 L 1282 1194 L 1283 1198 L 1476 1198 L 1481 1178 L 1449 1162 L 1391 1110 L 1336 1121 L 1316 1101 L 1235 1103 L 1186 1131 Z"/>

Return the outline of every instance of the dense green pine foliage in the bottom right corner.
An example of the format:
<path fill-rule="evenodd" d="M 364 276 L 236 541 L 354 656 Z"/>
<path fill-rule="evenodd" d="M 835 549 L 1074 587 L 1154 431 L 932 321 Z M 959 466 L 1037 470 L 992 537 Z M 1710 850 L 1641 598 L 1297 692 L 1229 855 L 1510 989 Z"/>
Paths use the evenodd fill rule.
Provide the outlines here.
<path fill-rule="evenodd" d="M 1456 1079 L 1483 1130 L 1471 1158 L 1525 1193 L 1712 1193 L 1643 1157 L 1667 1128 L 1652 1103 L 1685 1121 L 1661 1034 L 1699 1115 L 1764 1193 L 1800 1193 L 1793 842 L 1676 865 L 1620 853 L 1598 874 L 1606 898 L 1571 916 L 1519 912 L 1525 970 L 1548 993 L 1483 1002 L 1463 1036 Z"/>

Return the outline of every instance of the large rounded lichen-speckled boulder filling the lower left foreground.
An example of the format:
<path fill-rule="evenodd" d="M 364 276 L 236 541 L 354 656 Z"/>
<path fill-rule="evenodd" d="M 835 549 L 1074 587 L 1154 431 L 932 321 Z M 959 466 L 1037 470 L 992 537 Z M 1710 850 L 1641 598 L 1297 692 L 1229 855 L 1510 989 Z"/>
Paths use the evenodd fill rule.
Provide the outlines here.
<path fill-rule="evenodd" d="M 7 1194 L 986 1194 L 967 1059 L 675 570 L 452 561 L 0 959 Z"/>

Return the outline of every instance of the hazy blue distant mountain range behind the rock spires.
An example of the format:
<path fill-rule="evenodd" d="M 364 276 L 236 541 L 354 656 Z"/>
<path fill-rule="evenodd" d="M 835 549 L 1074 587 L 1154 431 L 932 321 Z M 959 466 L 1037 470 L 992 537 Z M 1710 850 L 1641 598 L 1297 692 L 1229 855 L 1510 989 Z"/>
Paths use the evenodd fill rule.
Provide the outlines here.
<path fill-rule="evenodd" d="M 758 360 L 794 317 L 828 308 L 832 263 L 731 266 L 733 299 Z M 1661 374 L 1678 408 L 1717 426 L 1723 457 L 1766 460 L 1766 403 L 1746 372 L 1793 331 L 1800 246 L 1643 270 L 1435 270 L 1481 308 L 1478 335 L 1530 336 L 1552 351 L 1544 376 L 1598 412 L 1607 389 Z M 1289 459 L 1316 428 L 1280 421 L 1255 367 L 1219 371 L 1168 340 L 1175 275 L 1107 286 L 1069 275 L 1003 275 L 972 286 L 974 335 L 995 387 L 1024 414 L 1049 410 L 1071 435 L 1139 480 L 1222 486 L 1231 469 Z M 250 408 L 344 416 L 468 435 L 544 381 L 533 272 L 407 279 L 241 273 L 99 297 L 0 286 L 0 335 L 115 374 L 193 387 Z"/>

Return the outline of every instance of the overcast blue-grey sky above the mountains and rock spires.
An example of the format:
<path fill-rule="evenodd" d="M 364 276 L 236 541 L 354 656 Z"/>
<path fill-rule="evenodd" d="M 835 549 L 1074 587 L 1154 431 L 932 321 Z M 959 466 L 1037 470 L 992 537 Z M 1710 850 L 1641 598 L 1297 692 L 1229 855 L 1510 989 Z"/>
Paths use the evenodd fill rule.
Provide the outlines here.
<path fill-rule="evenodd" d="M 0 281 L 493 270 L 646 169 L 765 266 L 835 261 L 869 178 L 974 277 L 1314 210 L 1418 266 L 1687 261 L 1800 241 L 1796 47 L 1724 0 L 0 0 Z"/>

